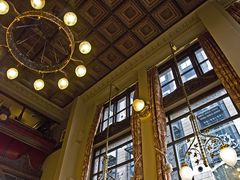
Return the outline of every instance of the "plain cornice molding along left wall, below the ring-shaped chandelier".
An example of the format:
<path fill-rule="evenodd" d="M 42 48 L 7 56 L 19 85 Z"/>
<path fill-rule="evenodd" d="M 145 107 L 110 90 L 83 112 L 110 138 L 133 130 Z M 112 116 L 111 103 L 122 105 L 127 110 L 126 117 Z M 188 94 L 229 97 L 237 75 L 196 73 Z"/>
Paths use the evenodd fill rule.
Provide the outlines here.
<path fill-rule="evenodd" d="M 55 121 L 61 122 L 68 118 L 68 112 L 63 108 L 56 106 L 20 83 L 6 79 L 2 74 L 0 78 L 0 88 L 2 92 L 10 97 L 14 97 L 19 102 L 27 104 L 29 107 Z"/>

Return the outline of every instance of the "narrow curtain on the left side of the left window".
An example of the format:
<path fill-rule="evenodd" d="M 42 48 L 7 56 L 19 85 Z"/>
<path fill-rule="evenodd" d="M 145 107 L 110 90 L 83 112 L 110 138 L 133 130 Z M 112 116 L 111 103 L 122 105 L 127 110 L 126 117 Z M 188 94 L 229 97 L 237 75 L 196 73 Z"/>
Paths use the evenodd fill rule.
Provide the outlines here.
<path fill-rule="evenodd" d="M 82 166 L 82 175 L 81 180 L 86 180 L 88 177 L 88 173 L 90 170 L 90 164 L 91 164 L 91 156 L 92 156 L 92 150 L 93 150 L 93 141 L 94 137 L 97 133 L 97 129 L 101 120 L 101 115 L 103 112 L 103 106 L 99 105 L 97 106 L 94 119 L 91 125 L 91 129 L 88 134 L 87 144 L 85 148 L 85 154 L 83 159 L 83 166 Z"/>

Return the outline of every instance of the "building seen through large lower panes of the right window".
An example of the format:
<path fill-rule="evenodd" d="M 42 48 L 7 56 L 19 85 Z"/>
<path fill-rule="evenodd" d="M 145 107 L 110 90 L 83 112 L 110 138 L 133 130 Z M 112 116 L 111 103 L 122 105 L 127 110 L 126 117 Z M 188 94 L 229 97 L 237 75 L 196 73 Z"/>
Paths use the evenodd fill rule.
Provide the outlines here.
<path fill-rule="evenodd" d="M 208 130 L 209 134 L 220 137 L 225 143 L 230 144 L 236 150 L 238 156 L 240 156 L 240 114 L 227 92 L 223 88 L 220 88 L 206 95 L 206 97 L 203 97 L 203 99 L 197 101 L 192 106 L 200 129 L 203 132 Z M 189 113 L 186 109 L 187 107 L 183 107 L 182 109 L 167 113 L 169 119 L 167 125 L 167 156 L 174 168 L 172 173 L 172 179 L 174 180 L 180 179 L 178 169 L 184 163 L 185 152 L 193 139 L 193 129 L 188 117 Z M 229 177 L 232 177 L 233 180 L 238 179 L 237 175 L 234 177 L 236 169 L 223 165 L 219 156 L 220 145 L 219 142 L 206 152 L 210 167 L 206 168 L 201 163 L 197 164 L 194 157 L 190 156 L 187 159 L 187 163 L 193 168 L 196 174 L 194 177 L 195 180 L 200 180 L 203 177 L 207 177 L 208 180 L 228 180 Z M 206 146 L 208 145 L 206 144 Z M 211 157 L 210 154 L 213 152 L 217 156 Z M 239 165 L 240 161 L 238 161 L 237 166 Z M 203 170 L 200 171 L 202 168 Z"/>

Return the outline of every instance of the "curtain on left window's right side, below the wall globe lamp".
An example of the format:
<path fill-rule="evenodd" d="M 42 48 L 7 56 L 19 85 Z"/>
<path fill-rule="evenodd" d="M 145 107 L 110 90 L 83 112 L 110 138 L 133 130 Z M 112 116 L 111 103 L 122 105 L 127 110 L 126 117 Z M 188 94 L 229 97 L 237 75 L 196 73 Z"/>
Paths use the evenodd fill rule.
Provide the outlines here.
<path fill-rule="evenodd" d="M 134 99 L 135 98 L 138 98 L 138 85 L 136 85 L 136 91 L 134 93 Z M 143 180 L 141 120 L 135 111 L 133 111 L 131 118 L 131 131 L 133 139 L 134 179 Z"/>

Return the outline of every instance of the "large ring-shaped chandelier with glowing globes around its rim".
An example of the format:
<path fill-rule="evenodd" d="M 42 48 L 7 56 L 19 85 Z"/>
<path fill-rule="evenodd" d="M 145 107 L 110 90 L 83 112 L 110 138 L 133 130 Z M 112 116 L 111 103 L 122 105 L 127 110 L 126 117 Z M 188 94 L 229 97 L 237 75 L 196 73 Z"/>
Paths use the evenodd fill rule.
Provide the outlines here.
<path fill-rule="evenodd" d="M 7 48 L 17 61 L 15 67 L 6 71 L 6 76 L 10 80 L 16 79 L 19 75 L 17 67 L 24 66 L 40 74 L 40 78 L 33 83 L 34 89 L 39 91 L 45 86 L 44 74 L 61 72 L 63 76 L 57 85 L 60 90 L 64 90 L 69 85 L 64 68 L 70 61 L 79 63 L 75 68 L 77 77 L 83 77 L 87 72 L 83 61 L 73 58 L 76 44 L 79 43 L 79 51 L 83 55 L 91 51 L 91 44 L 85 40 L 75 41 L 70 29 L 77 23 L 77 15 L 74 12 L 65 13 L 61 20 L 52 13 L 42 11 L 45 0 L 30 0 L 30 3 L 34 10 L 19 13 L 10 1 L 0 0 L 0 16 L 6 15 L 10 7 L 16 13 L 8 27 L 1 25 L 6 31 L 6 44 L 0 47 Z M 24 30 L 29 34 L 21 39 Z M 34 49 L 36 47 L 37 52 Z"/>

